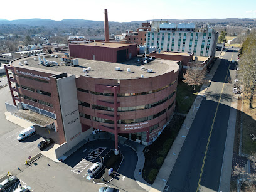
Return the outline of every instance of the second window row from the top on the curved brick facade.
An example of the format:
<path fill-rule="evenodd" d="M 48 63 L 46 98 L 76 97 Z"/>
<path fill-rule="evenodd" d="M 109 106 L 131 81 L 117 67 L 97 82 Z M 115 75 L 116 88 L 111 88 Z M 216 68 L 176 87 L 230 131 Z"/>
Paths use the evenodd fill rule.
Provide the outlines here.
<path fill-rule="evenodd" d="M 119 112 L 125 112 L 125 111 L 134 111 L 134 110 L 144 110 L 144 109 L 150 109 L 152 107 L 156 107 L 157 105 L 161 105 L 164 102 L 166 102 L 168 99 L 171 99 L 171 97 L 173 97 L 174 93 L 176 92 L 176 90 L 174 90 L 173 93 L 171 93 L 171 95 L 169 95 L 168 97 L 159 100 L 157 102 L 154 102 L 152 104 L 147 104 L 147 105 L 139 105 L 139 106 L 135 106 L 135 107 L 118 107 L 117 111 Z M 87 102 L 82 102 L 80 100 L 78 100 L 78 105 L 82 105 L 84 107 L 90 107 L 90 104 L 88 104 Z M 107 110 L 107 111 L 114 111 L 114 108 L 112 107 L 107 107 L 107 106 L 102 106 L 102 105 L 94 105 L 92 104 L 92 109 L 97 109 L 97 110 Z"/>

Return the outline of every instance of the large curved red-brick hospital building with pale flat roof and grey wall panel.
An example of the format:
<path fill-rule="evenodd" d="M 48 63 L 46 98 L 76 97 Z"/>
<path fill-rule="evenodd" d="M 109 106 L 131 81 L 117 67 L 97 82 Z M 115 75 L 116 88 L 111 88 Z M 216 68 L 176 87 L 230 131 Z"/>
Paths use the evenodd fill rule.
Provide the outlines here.
<path fill-rule="evenodd" d="M 45 58 L 60 63 L 61 56 Z M 6 74 L 14 105 L 33 110 L 41 115 L 36 125 L 58 132 L 56 157 L 93 129 L 113 133 L 117 150 L 118 136 L 151 144 L 173 117 L 179 73 L 175 61 L 153 60 L 142 67 L 138 58 L 124 63 L 79 59 L 73 67 L 46 66 L 37 58 L 12 61 Z"/>

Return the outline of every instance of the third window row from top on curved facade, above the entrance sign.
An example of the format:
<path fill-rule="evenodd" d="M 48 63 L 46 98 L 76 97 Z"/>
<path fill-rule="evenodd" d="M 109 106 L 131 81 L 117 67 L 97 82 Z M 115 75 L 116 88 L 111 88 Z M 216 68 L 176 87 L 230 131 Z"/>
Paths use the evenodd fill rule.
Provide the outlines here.
<path fill-rule="evenodd" d="M 148 117 L 142 117 L 142 118 L 137 118 L 137 119 L 121 119 L 121 120 L 118 120 L 118 124 L 134 124 L 134 123 L 138 123 L 138 122 L 144 122 L 146 120 L 155 119 L 155 118 L 159 117 L 160 115 L 163 115 L 167 110 L 169 110 L 173 106 L 173 104 L 174 104 L 174 101 L 171 103 L 171 105 L 168 106 L 167 109 L 164 109 L 155 115 L 150 115 Z M 80 113 L 80 114 L 82 114 L 82 113 Z M 104 122 L 107 124 L 114 124 L 114 121 L 109 120 L 109 119 L 100 118 L 100 117 L 92 117 L 92 120 L 97 121 L 97 122 Z"/>

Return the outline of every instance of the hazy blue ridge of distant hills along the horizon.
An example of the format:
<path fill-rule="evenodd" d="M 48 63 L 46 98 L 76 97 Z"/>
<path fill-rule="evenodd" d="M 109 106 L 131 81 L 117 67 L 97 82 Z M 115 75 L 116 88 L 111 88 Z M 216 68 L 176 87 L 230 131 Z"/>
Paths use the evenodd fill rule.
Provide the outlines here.
<path fill-rule="evenodd" d="M 232 25 L 242 25 L 250 24 L 256 26 L 256 19 L 238 19 L 238 18 L 227 18 L 227 19 L 163 19 L 168 20 L 171 23 L 179 22 L 193 22 L 196 24 L 232 24 Z M 151 21 L 151 20 L 147 20 Z M 120 24 L 129 24 L 129 23 L 146 23 L 147 21 L 131 21 L 131 22 L 112 22 L 109 21 L 109 24 L 120 25 Z M 92 20 L 83 20 L 83 19 L 64 19 L 62 21 L 55 21 L 51 19 L 19 19 L 9 21 L 6 19 L 0 19 L 0 24 L 16 24 L 16 25 L 27 25 L 27 26 L 56 26 L 56 27 L 90 27 L 104 24 L 104 21 L 92 21 Z"/>

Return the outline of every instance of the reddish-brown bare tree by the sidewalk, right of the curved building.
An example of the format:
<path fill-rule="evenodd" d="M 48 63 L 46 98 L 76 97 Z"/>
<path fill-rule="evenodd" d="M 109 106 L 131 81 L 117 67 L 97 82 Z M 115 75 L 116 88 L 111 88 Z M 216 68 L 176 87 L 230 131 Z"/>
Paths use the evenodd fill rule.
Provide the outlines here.
<path fill-rule="evenodd" d="M 188 83 L 188 85 L 194 85 L 194 90 L 196 85 L 202 85 L 205 83 L 205 75 L 206 70 L 200 70 L 199 68 L 189 68 L 186 70 L 186 73 L 183 74 L 184 83 Z"/>

